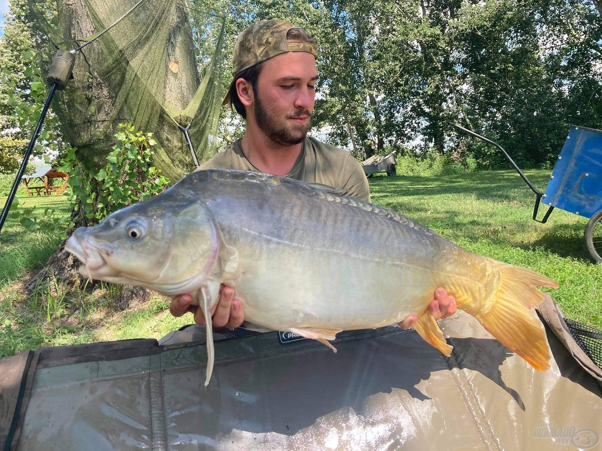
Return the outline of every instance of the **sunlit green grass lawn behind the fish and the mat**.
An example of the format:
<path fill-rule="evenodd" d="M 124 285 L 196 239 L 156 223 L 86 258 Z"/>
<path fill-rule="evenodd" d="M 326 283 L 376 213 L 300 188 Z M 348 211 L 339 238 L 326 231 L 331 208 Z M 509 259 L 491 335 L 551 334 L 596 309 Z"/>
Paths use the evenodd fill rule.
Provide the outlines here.
<path fill-rule="evenodd" d="M 540 189 L 549 174 L 527 171 Z M 602 265 L 591 263 L 583 248 L 587 219 L 554 210 L 547 224 L 532 221 L 533 195 L 514 171 L 378 175 L 370 179 L 370 186 L 374 203 L 402 212 L 475 253 L 556 279 L 560 288 L 551 293 L 566 316 L 602 327 Z M 25 206 L 54 206 L 69 214 L 64 197 L 19 200 Z M 7 226 L 0 235 L 0 357 L 39 346 L 160 338 L 193 322 L 190 314 L 173 318 L 168 302 L 159 297 L 116 312 L 110 284 L 73 292 L 42 290 L 23 298 L 16 282 L 42 265 L 61 240 L 25 232 L 11 222 Z"/>

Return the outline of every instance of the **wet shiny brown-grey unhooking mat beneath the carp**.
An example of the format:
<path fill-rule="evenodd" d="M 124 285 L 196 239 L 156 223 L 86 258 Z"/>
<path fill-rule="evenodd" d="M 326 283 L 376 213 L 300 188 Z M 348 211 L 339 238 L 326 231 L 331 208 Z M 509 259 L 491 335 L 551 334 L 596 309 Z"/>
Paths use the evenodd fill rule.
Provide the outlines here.
<path fill-rule="evenodd" d="M 452 356 L 415 331 L 215 334 L 41 348 L 0 360 L 4 450 L 600 449 L 602 370 L 549 296 L 551 369 L 534 370 L 459 311 Z"/>

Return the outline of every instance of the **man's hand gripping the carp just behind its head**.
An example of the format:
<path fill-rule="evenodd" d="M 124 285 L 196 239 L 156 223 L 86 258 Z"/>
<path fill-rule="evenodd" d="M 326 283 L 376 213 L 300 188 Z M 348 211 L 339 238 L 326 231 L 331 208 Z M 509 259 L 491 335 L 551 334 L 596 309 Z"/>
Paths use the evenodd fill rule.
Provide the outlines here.
<path fill-rule="evenodd" d="M 204 326 L 206 321 L 202 308 L 199 308 L 197 305 L 190 305 L 191 301 L 192 298 L 190 295 L 176 296 L 169 305 L 169 313 L 179 317 L 187 311 L 191 311 L 194 314 L 194 322 Z M 213 327 L 234 329 L 243 324 L 243 319 L 243 303 L 240 299 L 234 298 L 234 288 L 222 285 L 220 298 L 211 307 L 211 322 Z"/>

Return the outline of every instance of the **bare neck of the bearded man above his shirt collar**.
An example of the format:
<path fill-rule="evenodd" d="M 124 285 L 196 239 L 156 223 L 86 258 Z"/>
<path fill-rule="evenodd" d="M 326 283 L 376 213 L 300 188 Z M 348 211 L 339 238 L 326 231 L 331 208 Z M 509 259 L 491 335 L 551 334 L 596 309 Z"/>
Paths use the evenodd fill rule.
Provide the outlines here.
<path fill-rule="evenodd" d="M 270 140 L 261 130 L 247 130 L 241 141 L 244 156 L 261 172 L 286 176 L 293 170 L 303 143 L 283 146 Z"/>

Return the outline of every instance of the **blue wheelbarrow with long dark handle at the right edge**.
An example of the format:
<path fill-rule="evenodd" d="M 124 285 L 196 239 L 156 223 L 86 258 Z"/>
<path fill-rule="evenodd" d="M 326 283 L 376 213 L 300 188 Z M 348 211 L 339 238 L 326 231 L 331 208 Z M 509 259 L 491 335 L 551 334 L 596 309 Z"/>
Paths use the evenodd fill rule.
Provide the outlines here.
<path fill-rule="evenodd" d="M 602 262 L 602 130 L 571 126 L 550 182 L 545 192 L 541 192 L 499 144 L 458 124 L 453 126 L 501 150 L 535 193 L 533 221 L 544 224 L 554 208 L 589 218 L 584 233 L 585 248 L 595 262 Z M 541 220 L 537 219 L 540 203 L 548 206 Z"/>

